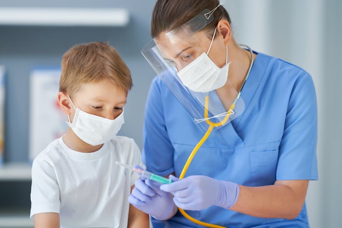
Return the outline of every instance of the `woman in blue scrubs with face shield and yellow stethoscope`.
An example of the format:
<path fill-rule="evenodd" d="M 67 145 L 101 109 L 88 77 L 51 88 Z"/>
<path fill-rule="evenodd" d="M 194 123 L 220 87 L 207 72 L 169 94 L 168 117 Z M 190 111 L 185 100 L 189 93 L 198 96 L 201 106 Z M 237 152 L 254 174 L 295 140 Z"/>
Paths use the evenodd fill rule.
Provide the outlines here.
<path fill-rule="evenodd" d="M 318 179 L 311 76 L 238 44 L 218 0 L 157 0 L 142 49 L 158 76 L 146 104 L 143 161 L 129 202 L 153 228 L 306 228 Z M 170 176 L 171 175 L 171 176 Z"/>

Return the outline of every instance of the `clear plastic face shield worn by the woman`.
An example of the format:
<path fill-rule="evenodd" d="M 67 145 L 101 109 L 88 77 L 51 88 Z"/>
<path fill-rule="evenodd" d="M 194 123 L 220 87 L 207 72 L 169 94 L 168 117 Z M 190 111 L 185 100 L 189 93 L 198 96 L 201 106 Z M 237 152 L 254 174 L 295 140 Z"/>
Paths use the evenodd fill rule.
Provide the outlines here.
<path fill-rule="evenodd" d="M 214 31 L 210 45 L 208 36 L 205 37 L 203 32 L 199 34 L 213 21 L 214 10 L 205 9 L 181 27 L 150 41 L 141 50 L 151 67 L 204 131 L 209 123 L 221 123 L 216 124 L 217 128 L 229 123 L 245 107 L 239 92 L 228 79 L 228 48 L 222 50 L 226 52 L 226 64 L 219 68 L 215 58 L 209 54 Z"/>

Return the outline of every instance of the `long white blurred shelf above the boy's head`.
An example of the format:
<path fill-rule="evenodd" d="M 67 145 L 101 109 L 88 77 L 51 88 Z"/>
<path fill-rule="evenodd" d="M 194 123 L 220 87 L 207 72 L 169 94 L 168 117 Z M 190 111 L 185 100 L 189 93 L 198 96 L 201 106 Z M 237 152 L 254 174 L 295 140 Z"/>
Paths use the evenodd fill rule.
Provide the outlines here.
<path fill-rule="evenodd" d="M 126 26 L 129 12 L 119 8 L 0 7 L 0 25 Z"/>

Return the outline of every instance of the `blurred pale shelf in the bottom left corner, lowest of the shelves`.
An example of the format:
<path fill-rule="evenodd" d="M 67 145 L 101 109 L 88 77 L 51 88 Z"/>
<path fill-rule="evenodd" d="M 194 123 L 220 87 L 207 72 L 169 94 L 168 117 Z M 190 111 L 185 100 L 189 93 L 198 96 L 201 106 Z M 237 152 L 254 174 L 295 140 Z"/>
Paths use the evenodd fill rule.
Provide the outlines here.
<path fill-rule="evenodd" d="M 33 228 L 33 221 L 27 210 L 0 210 L 0 228 Z"/>

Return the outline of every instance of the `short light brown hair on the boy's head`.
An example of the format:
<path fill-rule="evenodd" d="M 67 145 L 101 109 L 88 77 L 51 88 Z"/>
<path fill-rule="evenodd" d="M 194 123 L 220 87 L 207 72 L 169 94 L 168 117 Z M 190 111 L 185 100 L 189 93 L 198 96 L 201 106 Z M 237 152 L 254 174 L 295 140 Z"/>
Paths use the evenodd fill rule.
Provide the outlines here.
<path fill-rule="evenodd" d="M 62 58 L 60 91 L 70 96 L 82 84 L 109 79 L 126 94 L 132 88 L 132 78 L 125 62 L 114 47 L 94 42 L 72 46 Z"/>

